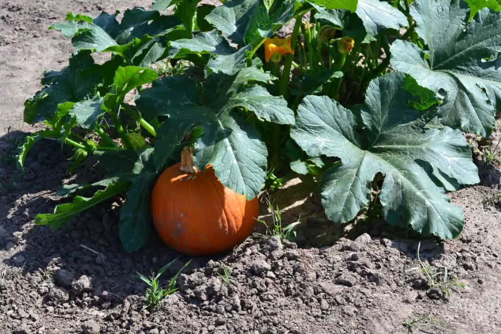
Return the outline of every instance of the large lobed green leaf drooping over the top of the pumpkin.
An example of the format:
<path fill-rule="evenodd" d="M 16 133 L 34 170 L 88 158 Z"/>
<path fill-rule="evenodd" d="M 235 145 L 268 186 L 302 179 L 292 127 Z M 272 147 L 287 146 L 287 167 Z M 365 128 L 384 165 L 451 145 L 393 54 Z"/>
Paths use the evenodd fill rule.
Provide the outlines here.
<path fill-rule="evenodd" d="M 185 87 L 167 78 L 144 90 L 136 100 L 139 109 L 149 110 L 151 116 L 168 116 L 155 141 L 156 168 L 164 166 L 184 133 L 196 125 L 202 132 L 194 142 L 197 166 L 211 164 L 226 187 L 249 198 L 257 196 L 266 177 L 267 149 L 259 132 L 234 109 L 292 124 L 294 112 L 286 101 L 255 84 L 269 79 L 256 68 L 244 68 L 234 75 L 210 74 L 201 96 L 187 95 Z"/>

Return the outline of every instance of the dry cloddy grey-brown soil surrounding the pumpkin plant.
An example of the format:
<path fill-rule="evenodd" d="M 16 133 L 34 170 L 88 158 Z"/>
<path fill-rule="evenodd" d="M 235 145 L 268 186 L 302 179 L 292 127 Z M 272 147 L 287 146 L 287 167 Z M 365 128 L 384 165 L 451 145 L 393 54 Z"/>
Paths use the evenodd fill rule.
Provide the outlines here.
<path fill-rule="evenodd" d="M 460 237 L 421 241 L 424 263 L 435 270 L 445 266 L 454 283 L 464 285 L 451 284 L 449 293 L 411 270 L 418 266 L 414 236 L 374 222 L 340 237 L 343 231 L 318 212 L 318 198 L 300 180 L 276 195 L 285 220 L 303 217 L 296 242 L 266 237 L 259 227 L 229 254 L 194 258 L 178 279 L 179 290 L 152 312 L 142 309 L 145 284 L 136 272 L 156 271 L 179 254 L 157 239 L 124 253 L 116 203 L 84 213 L 60 231 L 35 227 L 35 215 L 52 212 L 58 203 L 51 194 L 69 166 L 69 152 L 49 141 L 32 151 L 24 174 L 14 163 L 15 147 L 36 131 L 23 123 L 24 100 L 40 88 L 43 71 L 64 67 L 71 52 L 69 41 L 47 28 L 70 11 L 97 15 L 133 6 L 149 8 L 150 2 L 0 3 L 0 333 L 501 330 L 499 170 L 480 163 L 482 184 L 450 194 L 465 213 Z M 72 182 L 92 181 L 97 174 L 81 169 Z M 179 257 L 162 277 L 187 260 Z M 228 279 L 221 278 L 223 264 Z"/>

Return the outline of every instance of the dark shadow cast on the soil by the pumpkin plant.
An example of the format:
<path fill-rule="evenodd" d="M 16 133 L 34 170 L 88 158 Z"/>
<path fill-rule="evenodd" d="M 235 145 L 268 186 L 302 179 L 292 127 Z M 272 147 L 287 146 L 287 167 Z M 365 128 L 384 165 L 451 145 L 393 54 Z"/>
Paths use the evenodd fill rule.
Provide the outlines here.
<path fill-rule="evenodd" d="M 143 294 L 145 284 L 138 278 L 137 272 L 148 276 L 179 254 L 165 247 L 156 236 L 152 236 L 149 244 L 140 251 L 125 253 L 118 239 L 120 198 L 111 199 L 78 215 L 57 231 L 46 226 L 35 226 L 34 219 L 38 213 L 53 212 L 55 206 L 62 202 L 53 196 L 62 185 L 62 180 L 69 183 L 94 182 L 101 171 L 88 163 L 78 168 L 76 175 L 68 175 L 71 151 L 61 149 L 57 142 L 50 140 L 41 141 L 32 148 L 25 162 L 25 170 L 21 171 L 17 168 L 17 147 L 22 145 L 27 135 L 12 132 L 0 138 L 0 217 L 6 217 L 0 220 L 0 232 L 5 236 L 0 239 L 0 247 L 10 250 L 16 249 L 18 245 L 24 246 L 23 250 L 4 262 L 10 267 L 21 268 L 24 274 L 57 281 L 57 285 L 65 286 L 70 293 L 72 283 L 84 275 L 88 276 L 92 281 L 93 295 L 102 296 L 106 293 L 108 296 L 96 299 L 96 303 L 112 305 L 121 303 L 129 295 Z M 300 185 L 288 192 L 293 194 L 289 198 L 293 203 L 308 194 Z M 308 197 L 307 201 L 318 203 L 318 197 Z M 303 203 L 300 210 L 307 206 L 307 203 Z M 286 210 L 284 216 L 287 214 Z M 363 233 L 369 233 L 380 238 L 387 246 L 412 257 L 418 242 L 408 232 L 399 241 L 386 239 L 385 235 L 391 235 L 394 231 L 389 231 L 389 226 L 381 220 L 359 224 L 349 231 L 346 226 L 330 223 L 323 212 L 311 212 L 303 217 L 303 221 L 302 229 L 298 230 L 297 243 L 305 248 L 326 247 L 341 237 L 356 239 Z M 260 231 L 260 227 L 257 230 L 264 232 Z M 307 231 L 315 233 L 308 234 Z M 421 243 L 423 253 L 431 249 L 433 251 L 424 256 L 431 257 L 442 252 L 443 245 L 437 247 L 433 240 Z M 224 256 L 194 258 L 184 272 L 189 273 L 194 268 L 204 267 L 209 260 L 218 261 Z M 174 275 L 189 259 L 180 256 L 166 270 L 163 278 Z"/>

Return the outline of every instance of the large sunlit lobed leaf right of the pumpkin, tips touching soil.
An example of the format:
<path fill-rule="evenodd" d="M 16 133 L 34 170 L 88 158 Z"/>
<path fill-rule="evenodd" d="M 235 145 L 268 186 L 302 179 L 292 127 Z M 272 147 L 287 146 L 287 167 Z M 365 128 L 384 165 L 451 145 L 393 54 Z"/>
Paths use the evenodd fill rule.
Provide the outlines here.
<path fill-rule="evenodd" d="M 355 217 L 369 201 L 371 182 L 380 172 L 385 176 L 380 199 L 388 223 L 441 238 L 459 234 L 461 209 L 421 166 L 431 165 L 456 184 L 477 183 L 477 169 L 460 131 L 424 127 L 435 107 L 414 107 L 422 99 L 429 105 L 429 95 L 400 73 L 375 79 L 359 111 L 362 124 L 354 112 L 327 97 L 303 100 L 291 137 L 311 157 L 326 155 L 342 162 L 321 181 L 322 204 L 332 221 Z"/>

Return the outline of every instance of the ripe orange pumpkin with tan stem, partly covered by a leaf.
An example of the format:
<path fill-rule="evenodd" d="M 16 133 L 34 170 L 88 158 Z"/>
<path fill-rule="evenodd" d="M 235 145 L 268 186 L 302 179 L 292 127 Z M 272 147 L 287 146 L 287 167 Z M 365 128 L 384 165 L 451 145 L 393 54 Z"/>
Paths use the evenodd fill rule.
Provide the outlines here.
<path fill-rule="evenodd" d="M 165 244 L 187 255 L 211 255 L 230 250 L 253 232 L 259 202 L 226 188 L 212 166 L 196 170 L 185 147 L 181 162 L 157 179 L 151 212 Z"/>

